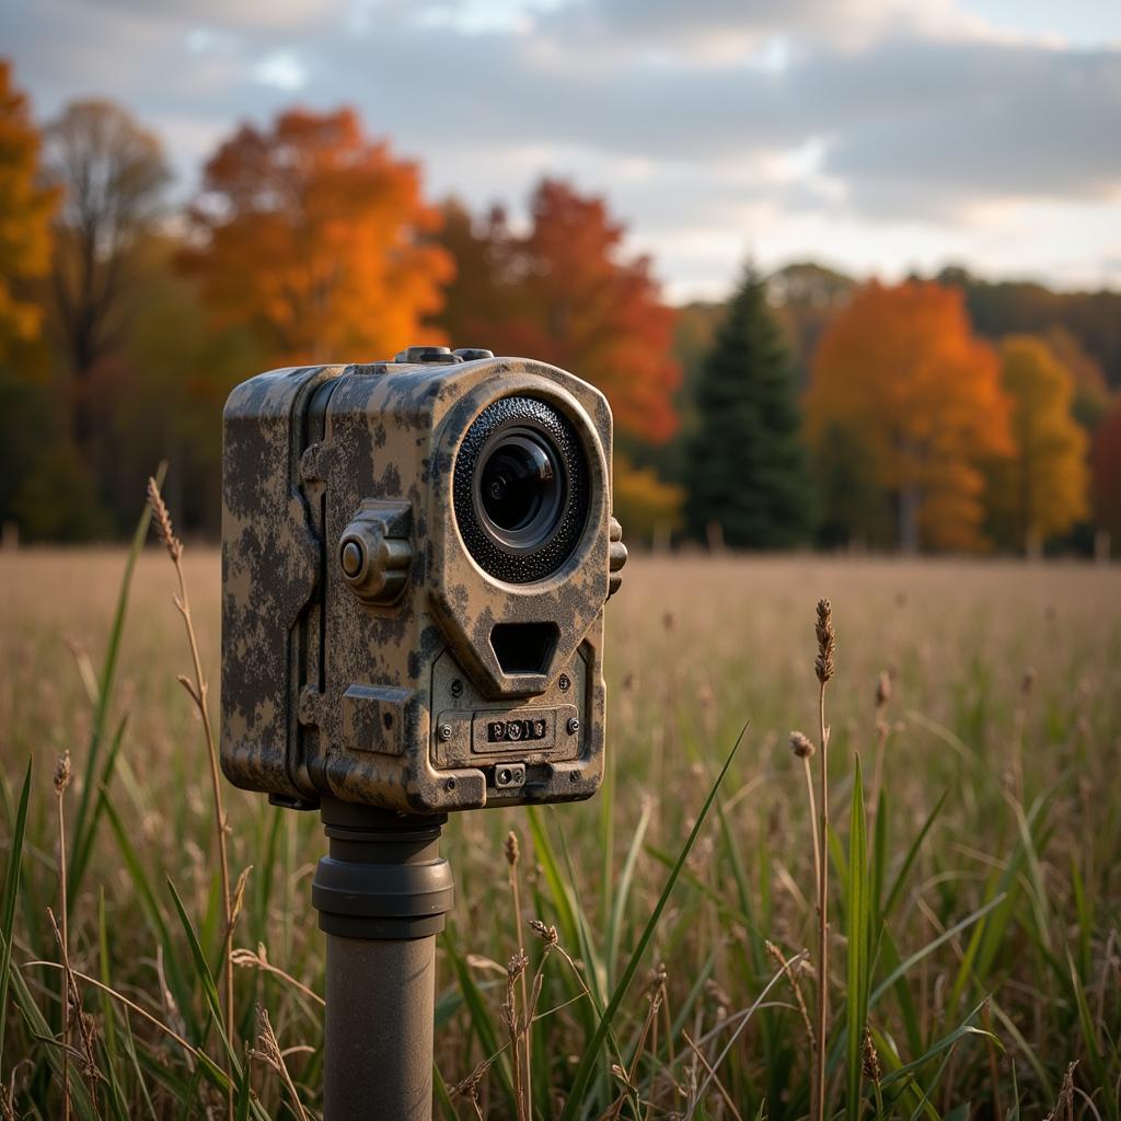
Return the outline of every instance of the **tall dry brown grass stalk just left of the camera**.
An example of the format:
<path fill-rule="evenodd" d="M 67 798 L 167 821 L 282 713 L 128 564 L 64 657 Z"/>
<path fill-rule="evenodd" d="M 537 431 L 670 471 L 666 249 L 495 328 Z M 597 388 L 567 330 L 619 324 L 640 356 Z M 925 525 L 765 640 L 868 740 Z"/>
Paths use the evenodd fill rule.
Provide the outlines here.
<path fill-rule="evenodd" d="M 233 939 L 234 904 L 233 893 L 230 890 L 230 858 L 226 845 L 225 808 L 222 802 L 222 778 L 219 771 L 217 748 L 214 742 L 214 730 L 211 726 L 210 708 L 206 704 L 207 684 L 203 676 L 202 658 L 198 654 L 198 640 L 195 637 L 195 628 L 191 618 L 191 601 L 187 597 L 187 582 L 183 572 L 183 543 L 175 536 L 172 525 L 172 517 L 167 511 L 163 495 L 159 493 L 159 485 L 155 479 L 148 480 L 148 504 L 151 507 L 152 524 L 159 535 L 160 540 L 167 549 L 167 555 L 175 565 L 175 575 L 179 584 L 178 595 L 175 596 L 175 605 L 183 617 L 183 624 L 187 632 L 187 642 L 191 647 L 191 660 L 194 667 L 194 680 L 180 676 L 179 682 L 191 695 L 198 715 L 203 722 L 203 732 L 206 736 L 206 753 L 210 759 L 211 787 L 214 797 L 214 828 L 217 837 L 219 863 L 222 874 L 222 907 L 223 907 L 223 939 L 222 939 L 222 979 L 223 979 L 223 1019 L 225 1026 L 225 1037 L 230 1046 L 235 1047 L 233 1038 L 233 961 L 230 955 L 230 947 Z M 229 1076 L 229 1090 L 226 1094 L 226 1108 L 230 1117 L 233 1114 L 233 1072 L 229 1059 L 225 1064 L 225 1072 Z"/>

